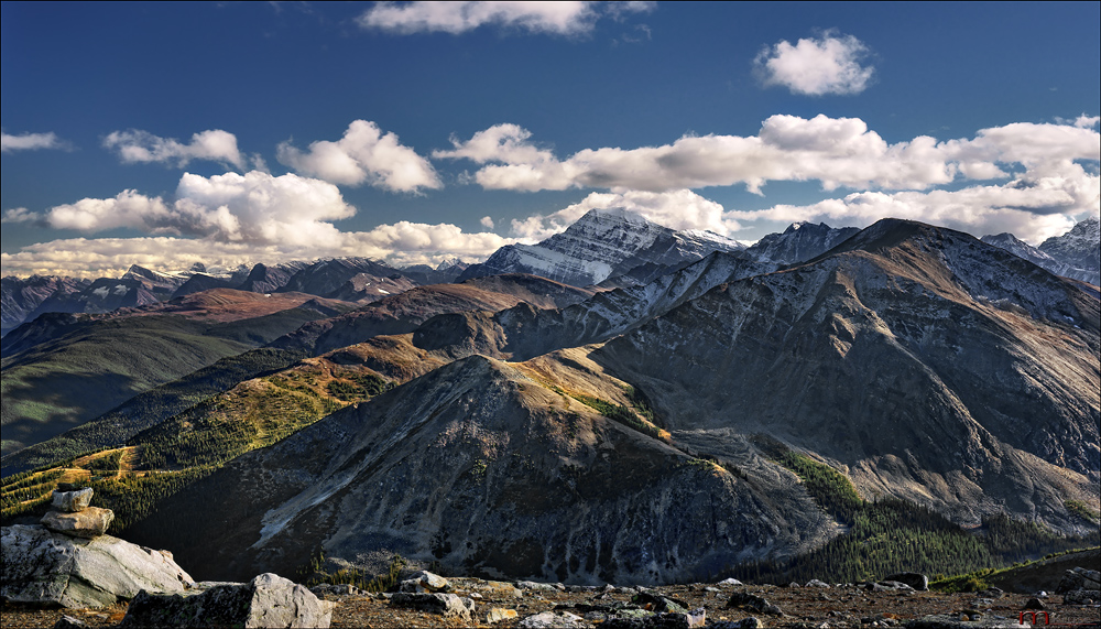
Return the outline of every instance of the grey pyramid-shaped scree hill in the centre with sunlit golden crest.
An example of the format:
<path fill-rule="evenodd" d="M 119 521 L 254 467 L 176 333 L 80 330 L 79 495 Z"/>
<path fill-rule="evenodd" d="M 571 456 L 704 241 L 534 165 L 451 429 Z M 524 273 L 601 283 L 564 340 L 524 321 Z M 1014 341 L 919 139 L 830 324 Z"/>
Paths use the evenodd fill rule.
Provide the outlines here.
<path fill-rule="evenodd" d="M 131 534 L 171 536 L 204 578 L 292 571 L 324 551 L 656 583 L 832 534 L 789 474 L 761 465 L 770 474 L 744 481 L 473 356 L 239 457 Z M 172 523 L 200 501 L 212 517 Z"/>

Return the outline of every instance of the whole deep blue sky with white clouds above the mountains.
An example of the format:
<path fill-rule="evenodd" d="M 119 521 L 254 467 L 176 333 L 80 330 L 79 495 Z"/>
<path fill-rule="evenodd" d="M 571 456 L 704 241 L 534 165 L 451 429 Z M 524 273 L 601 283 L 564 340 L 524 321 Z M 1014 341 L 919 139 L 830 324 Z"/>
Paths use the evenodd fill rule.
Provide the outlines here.
<path fill-rule="evenodd" d="M 3 274 L 1099 214 L 1101 4 L 2 4 Z"/>

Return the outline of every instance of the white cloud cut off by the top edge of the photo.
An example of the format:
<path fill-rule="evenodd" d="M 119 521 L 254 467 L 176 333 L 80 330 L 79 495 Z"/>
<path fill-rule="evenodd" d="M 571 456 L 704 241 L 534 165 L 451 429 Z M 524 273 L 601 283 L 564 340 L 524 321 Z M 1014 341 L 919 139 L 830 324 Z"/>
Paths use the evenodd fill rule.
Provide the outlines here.
<path fill-rule="evenodd" d="M 498 26 L 576 35 L 592 30 L 601 17 L 654 9 L 654 2 L 378 2 L 359 18 L 360 26 L 393 33 L 466 33 Z"/>

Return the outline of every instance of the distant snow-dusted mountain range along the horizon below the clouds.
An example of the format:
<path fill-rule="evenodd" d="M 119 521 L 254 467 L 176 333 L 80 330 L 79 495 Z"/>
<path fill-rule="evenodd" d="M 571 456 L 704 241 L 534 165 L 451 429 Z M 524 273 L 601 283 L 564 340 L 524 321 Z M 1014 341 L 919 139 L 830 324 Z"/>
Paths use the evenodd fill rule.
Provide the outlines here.
<path fill-rule="evenodd" d="M 206 273 L 203 264 L 179 273 L 161 273 L 135 264 L 119 279 L 7 276 L 0 286 L 0 336 L 44 313 L 106 313 L 210 289 L 302 292 L 367 303 L 413 286 L 501 273 L 534 274 L 575 286 L 640 286 L 715 251 L 737 253 L 765 265 L 804 262 L 857 231 L 852 227 L 833 229 L 825 224 L 799 223 L 745 247 L 709 231 L 675 231 L 621 209 L 593 209 L 563 234 L 537 245 L 502 247 L 484 262 L 469 265 L 449 260 L 436 269 L 424 264 L 394 269 L 366 258 L 344 258 L 257 264 L 222 275 Z M 983 236 L 982 240 L 1058 275 L 1098 285 L 1101 283 L 1099 231 L 1098 220 L 1089 218 L 1038 248 L 1012 234 Z"/>

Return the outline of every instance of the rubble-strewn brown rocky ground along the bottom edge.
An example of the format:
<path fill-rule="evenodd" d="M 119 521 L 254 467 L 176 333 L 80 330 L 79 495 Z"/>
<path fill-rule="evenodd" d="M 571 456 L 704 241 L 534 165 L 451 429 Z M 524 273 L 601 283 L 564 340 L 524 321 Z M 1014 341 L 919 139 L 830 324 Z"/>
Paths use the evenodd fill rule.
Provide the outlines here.
<path fill-rule="evenodd" d="M 998 589 L 939 594 L 905 585 L 810 582 L 777 587 L 734 583 L 673 585 L 654 588 L 506 584 L 451 578 L 434 589 L 424 586 L 395 594 L 359 593 L 350 586 L 314 590 L 336 603 L 330 627 L 578 627 L 712 629 L 753 627 L 1020 627 L 1036 623 L 1098 627 L 1098 598 L 1067 594 L 1010 594 Z M 438 578 L 438 577 L 437 577 Z M 437 584 L 438 585 L 438 584 Z M 439 603 L 430 603 L 430 600 Z M 449 601 L 449 603 L 443 603 Z M 133 605 L 133 604 L 131 604 Z M 102 609 L 36 609 L 4 604 L 0 629 L 54 627 L 68 616 L 88 627 L 123 622 L 124 603 Z M 77 625 L 78 626 L 78 625 Z"/>

